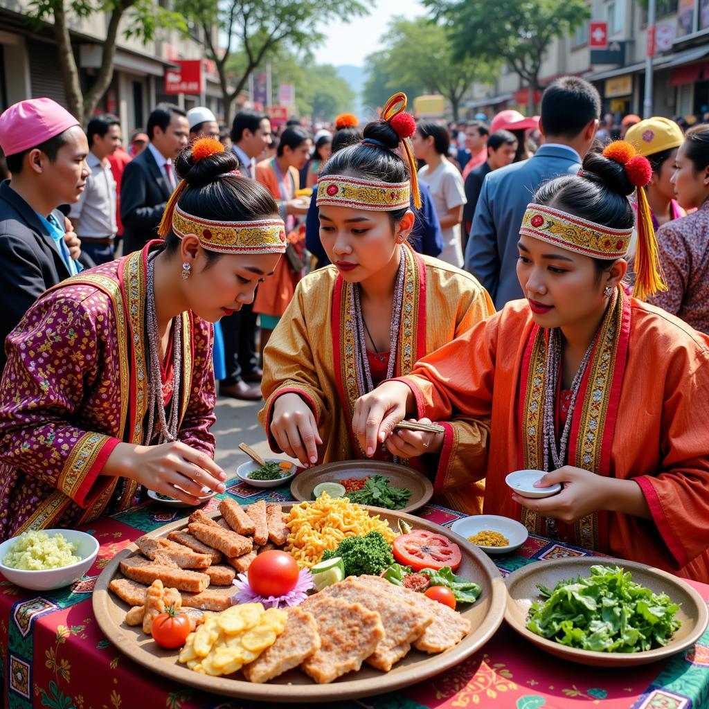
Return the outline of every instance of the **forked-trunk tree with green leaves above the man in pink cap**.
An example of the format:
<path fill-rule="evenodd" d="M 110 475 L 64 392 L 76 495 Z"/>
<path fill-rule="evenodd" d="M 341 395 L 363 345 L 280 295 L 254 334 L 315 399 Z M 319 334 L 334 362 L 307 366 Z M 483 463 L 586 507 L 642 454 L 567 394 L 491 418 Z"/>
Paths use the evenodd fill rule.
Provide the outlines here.
<path fill-rule="evenodd" d="M 106 39 L 101 43 L 101 67 L 88 91 L 82 93 L 69 27 L 72 17 L 89 18 L 94 13 L 108 13 Z M 59 68 L 69 111 L 82 125 L 99 105 L 113 79 L 113 60 L 116 57 L 121 20 L 125 19 L 125 37 L 138 37 L 144 42 L 153 38 L 157 28 L 186 29 L 184 18 L 164 9 L 151 0 L 32 0 L 28 20 L 36 26 L 52 23 L 54 26 Z"/>

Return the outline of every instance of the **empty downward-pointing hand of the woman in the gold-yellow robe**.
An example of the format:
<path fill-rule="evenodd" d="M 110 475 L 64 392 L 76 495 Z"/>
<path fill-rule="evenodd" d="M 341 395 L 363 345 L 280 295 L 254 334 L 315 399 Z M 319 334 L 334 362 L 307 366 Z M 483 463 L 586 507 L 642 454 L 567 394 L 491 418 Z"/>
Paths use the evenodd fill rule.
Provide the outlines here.
<path fill-rule="evenodd" d="M 323 445 L 311 408 L 296 393 L 281 394 L 273 405 L 271 435 L 281 450 L 308 467 L 318 462 Z"/>

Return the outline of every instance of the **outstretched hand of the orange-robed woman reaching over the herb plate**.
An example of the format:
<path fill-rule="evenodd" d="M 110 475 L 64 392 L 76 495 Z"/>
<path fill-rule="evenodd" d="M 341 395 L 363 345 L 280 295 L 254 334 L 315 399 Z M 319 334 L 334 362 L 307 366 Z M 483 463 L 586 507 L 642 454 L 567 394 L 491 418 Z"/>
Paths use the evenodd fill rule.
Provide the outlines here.
<path fill-rule="evenodd" d="M 396 424 L 413 408 L 413 393 L 401 381 L 385 381 L 354 403 L 352 430 L 359 445 L 372 457 L 376 446 L 383 443 Z"/>

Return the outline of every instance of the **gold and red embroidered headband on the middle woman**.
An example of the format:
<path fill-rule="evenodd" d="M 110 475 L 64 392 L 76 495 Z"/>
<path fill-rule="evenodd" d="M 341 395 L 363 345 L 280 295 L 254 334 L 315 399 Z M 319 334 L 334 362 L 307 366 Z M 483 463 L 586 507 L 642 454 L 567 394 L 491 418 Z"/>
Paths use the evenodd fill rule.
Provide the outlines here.
<path fill-rule="evenodd" d="M 328 175 L 318 180 L 318 207 L 352 207 L 372 211 L 396 211 L 411 206 L 408 182 L 374 182 L 359 177 Z"/>

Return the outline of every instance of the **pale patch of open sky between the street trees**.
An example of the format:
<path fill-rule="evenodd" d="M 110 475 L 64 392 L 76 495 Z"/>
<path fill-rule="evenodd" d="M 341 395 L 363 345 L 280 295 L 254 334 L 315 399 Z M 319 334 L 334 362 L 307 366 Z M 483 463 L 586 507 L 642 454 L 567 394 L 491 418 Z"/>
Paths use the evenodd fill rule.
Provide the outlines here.
<path fill-rule="evenodd" d="M 318 64 L 364 66 L 364 57 L 379 49 L 379 38 L 395 15 L 411 19 L 425 13 L 416 0 L 376 0 L 369 15 L 350 22 L 329 21 L 325 42 L 315 50 Z"/>

